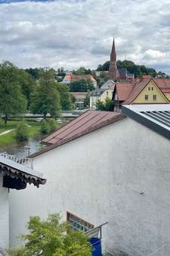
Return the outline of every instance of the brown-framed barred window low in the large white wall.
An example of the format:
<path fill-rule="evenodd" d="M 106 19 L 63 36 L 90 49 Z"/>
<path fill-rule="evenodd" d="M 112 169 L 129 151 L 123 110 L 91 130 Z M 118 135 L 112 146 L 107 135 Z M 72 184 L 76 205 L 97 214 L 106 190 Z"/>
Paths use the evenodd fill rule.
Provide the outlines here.
<path fill-rule="evenodd" d="M 70 212 L 66 212 L 66 220 L 71 224 L 73 230 L 82 230 L 84 232 L 94 229 L 94 225 L 86 220 L 82 220 Z"/>

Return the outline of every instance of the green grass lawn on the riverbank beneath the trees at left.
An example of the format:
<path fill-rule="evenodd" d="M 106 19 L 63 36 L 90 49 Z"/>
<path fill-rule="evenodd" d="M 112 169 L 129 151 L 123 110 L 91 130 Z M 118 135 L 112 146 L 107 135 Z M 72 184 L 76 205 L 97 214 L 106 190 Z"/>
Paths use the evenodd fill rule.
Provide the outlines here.
<path fill-rule="evenodd" d="M 18 123 L 20 123 L 20 121 L 17 120 L 12 120 L 12 121 L 8 121 L 7 126 L 5 126 L 4 123 L 2 123 L 0 125 L 0 133 L 3 133 L 7 130 L 11 130 L 11 129 L 16 129 Z M 33 121 L 26 121 L 25 123 L 27 123 L 30 127 L 29 129 L 29 138 L 34 138 L 35 136 L 40 134 L 40 122 L 33 122 Z M 16 141 L 16 131 L 12 131 L 11 133 L 7 133 L 5 135 L 0 136 L 0 145 L 11 145 Z"/>

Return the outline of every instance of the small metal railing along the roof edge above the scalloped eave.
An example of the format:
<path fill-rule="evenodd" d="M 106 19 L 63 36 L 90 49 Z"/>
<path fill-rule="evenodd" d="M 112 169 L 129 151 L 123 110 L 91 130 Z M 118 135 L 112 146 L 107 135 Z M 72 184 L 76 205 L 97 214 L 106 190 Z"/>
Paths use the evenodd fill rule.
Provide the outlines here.
<path fill-rule="evenodd" d="M 29 167 L 33 170 L 33 159 L 31 159 L 31 158 L 17 157 L 15 155 L 10 155 L 6 152 L 0 153 L 0 156 L 2 158 L 6 158 L 8 160 L 14 161 L 17 164 L 23 164 L 24 166 Z"/>

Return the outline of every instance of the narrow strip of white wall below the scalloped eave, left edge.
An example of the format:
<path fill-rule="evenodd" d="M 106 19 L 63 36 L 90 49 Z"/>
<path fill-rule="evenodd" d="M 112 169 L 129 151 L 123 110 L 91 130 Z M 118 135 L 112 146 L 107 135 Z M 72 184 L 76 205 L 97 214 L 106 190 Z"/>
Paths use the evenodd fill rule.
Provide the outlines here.
<path fill-rule="evenodd" d="M 9 243 L 9 205 L 8 189 L 2 187 L 0 174 L 0 248 L 8 248 Z"/>

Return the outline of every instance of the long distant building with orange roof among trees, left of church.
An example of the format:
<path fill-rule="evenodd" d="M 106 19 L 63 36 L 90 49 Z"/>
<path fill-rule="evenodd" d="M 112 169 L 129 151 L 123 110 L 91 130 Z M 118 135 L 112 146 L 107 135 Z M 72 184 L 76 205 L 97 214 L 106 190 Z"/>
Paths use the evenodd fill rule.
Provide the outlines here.
<path fill-rule="evenodd" d="M 70 84 L 71 82 L 79 81 L 79 80 L 88 80 L 93 84 L 94 88 L 97 88 L 97 81 L 94 79 L 93 76 L 91 76 L 91 74 L 88 74 L 88 75 L 68 74 L 68 75 L 64 76 L 62 83 Z"/>

